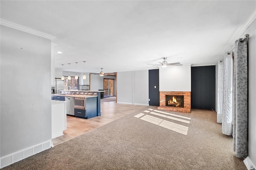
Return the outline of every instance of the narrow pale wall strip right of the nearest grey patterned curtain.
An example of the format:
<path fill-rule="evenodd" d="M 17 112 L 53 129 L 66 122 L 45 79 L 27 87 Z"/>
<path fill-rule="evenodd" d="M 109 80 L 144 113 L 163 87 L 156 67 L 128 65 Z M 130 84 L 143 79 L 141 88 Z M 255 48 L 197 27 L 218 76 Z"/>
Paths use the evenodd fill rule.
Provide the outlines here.
<path fill-rule="evenodd" d="M 249 34 L 248 43 L 248 156 L 256 164 L 256 20 L 240 38 Z"/>

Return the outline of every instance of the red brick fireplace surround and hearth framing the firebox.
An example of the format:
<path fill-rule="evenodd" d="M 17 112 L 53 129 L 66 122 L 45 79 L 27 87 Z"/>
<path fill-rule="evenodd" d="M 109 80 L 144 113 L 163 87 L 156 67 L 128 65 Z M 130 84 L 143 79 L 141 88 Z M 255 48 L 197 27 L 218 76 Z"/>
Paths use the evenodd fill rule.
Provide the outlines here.
<path fill-rule="evenodd" d="M 166 96 L 184 96 L 183 107 L 166 106 Z M 190 91 L 160 91 L 160 106 L 157 108 L 164 111 L 176 111 L 190 113 L 191 110 L 191 92 Z"/>

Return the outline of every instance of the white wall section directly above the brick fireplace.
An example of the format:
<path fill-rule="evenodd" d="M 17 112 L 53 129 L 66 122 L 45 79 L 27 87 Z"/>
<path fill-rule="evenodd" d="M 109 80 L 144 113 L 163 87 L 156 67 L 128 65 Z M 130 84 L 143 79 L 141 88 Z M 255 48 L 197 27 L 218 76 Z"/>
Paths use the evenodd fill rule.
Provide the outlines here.
<path fill-rule="evenodd" d="M 191 64 L 159 67 L 159 91 L 191 91 Z"/>

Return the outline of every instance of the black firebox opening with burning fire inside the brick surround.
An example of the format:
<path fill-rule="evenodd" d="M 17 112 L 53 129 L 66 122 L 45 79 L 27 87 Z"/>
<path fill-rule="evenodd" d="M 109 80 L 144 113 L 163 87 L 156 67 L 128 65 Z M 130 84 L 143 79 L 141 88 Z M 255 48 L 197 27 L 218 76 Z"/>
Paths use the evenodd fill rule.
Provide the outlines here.
<path fill-rule="evenodd" d="M 184 107 L 184 96 L 181 95 L 165 95 L 165 106 Z"/>

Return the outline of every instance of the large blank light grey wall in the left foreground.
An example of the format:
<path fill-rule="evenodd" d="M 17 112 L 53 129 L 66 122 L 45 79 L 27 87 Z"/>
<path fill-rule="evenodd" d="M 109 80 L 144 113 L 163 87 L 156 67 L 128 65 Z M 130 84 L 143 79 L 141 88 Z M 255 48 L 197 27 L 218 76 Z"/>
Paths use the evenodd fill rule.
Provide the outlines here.
<path fill-rule="evenodd" d="M 51 140 L 51 40 L 2 25 L 0 36 L 2 157 Z"/>

